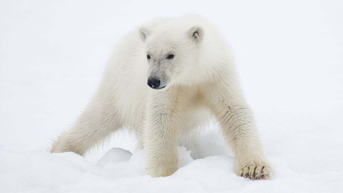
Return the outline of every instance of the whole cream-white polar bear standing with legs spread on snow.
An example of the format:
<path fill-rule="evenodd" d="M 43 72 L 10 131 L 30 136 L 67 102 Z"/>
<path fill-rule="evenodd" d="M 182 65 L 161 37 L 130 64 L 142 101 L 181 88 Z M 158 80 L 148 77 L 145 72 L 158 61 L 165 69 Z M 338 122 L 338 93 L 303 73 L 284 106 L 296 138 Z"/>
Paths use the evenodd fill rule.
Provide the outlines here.
<path fill-rule="evenodd" d="M 179 137 L 211 115 L 235 153 L 236 174 L 272 179 L 223 36 L 197 15 L 155 19 L 116 46 L 93 98 L 50 151 L 83 156 L 128 128 L 146 152 L 147 173 L 168 176 L 178 169 Z"/>

